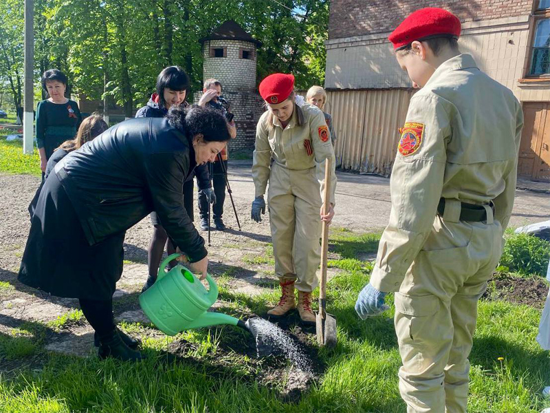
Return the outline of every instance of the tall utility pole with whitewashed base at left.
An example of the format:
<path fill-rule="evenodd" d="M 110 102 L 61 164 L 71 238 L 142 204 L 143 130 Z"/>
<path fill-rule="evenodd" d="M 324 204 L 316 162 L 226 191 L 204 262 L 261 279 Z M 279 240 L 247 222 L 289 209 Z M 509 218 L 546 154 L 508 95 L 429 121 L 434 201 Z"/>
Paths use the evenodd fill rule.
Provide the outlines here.
<path fill-rule="evenodd" d="M 25 85 L 23 100 L 23 153 L 34 149 L 34 0 L 25 0 Z"/>

